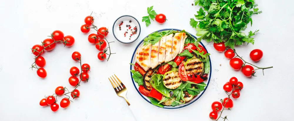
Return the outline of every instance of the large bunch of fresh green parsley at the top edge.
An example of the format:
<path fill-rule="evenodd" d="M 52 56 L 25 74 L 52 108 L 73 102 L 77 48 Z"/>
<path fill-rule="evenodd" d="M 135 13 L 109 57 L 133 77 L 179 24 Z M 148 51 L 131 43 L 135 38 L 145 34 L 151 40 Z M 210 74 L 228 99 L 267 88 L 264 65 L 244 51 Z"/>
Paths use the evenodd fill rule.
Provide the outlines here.
<path fill-rule="evenodd" d="M 194 0 L 204 8 L 197 11 L 195 18 L 190 19 L 190 25 L 196 28 L 196 35 L 200 36 L 198 41 L 206 40 L 219 43 L 225 42 L 225 46 L 234 49 L 235 45 L 247 42 L 254 44 L 255 32 L 250 31 L 248 35 L 241 32 L 247 28 L 250 22 L 252 26 L 253 14 L 262 13 L 258 11 L 254 0 Z M 251 10 L 253 8 L 253 11 Z M 206 15 L 206 12 L 207 15 Z"/>

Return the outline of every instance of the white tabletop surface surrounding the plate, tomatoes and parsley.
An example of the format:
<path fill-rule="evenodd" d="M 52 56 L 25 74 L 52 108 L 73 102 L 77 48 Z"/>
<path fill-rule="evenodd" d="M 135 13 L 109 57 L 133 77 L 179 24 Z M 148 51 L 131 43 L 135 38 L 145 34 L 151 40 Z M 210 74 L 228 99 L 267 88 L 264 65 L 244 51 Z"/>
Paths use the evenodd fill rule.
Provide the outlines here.
<path fill-rule="evenodd" d="M 250 61 L 253 49 L 263 50 L 263 58 L 254 63 L 260 67 L 273 66 L 256 73 L 257 77 L 246 78 L 240 71 L 229 66 L 223 53 L 216 52 L 213 43 L 203 41 L 212 60 L 212 76 L 206 92 L 193 104 L 176 110 L 157 108 L 147 103 L 135 90 L 131 82 L 129 62 L 136 45 L 146 35 L 164 28 L 185 29 L 196 34 L 189 25 L 189 19 L 199 9 L 191 6 L 192 0 L 178 1 L 134 1 L 134 0 L 1 0 L 0 1 L 0 120 L 135 120 L 125 100 L 116 96 L 108 77 L 116 74 L 128 88 L 127 97 L 136 112 L 137 120 L 191 120 L 209 121 L 213 101 L 225 98 L 223 84 L 235 76 L 243 82 L 244 89 L 234 107 L 225 111 L 230 121 L 293 120 L 293 37 L 294 11 L 292 0 L 255 0 L 262 14 L 253 15 L 253 26 L 259 29 L 254 36 L 254 45 L 236 47 L 238 54 Z M 146 27 L 141 17 L 147 15 L 147 7 L 154 6 L 157 13 L 164 13 L 168 21 L 159 25 L 151 21 Z M 99 61 L 98 50 L 91 45 L 80 27 L 84 18 L 93 11 L 95 25 L 109 27 L 108 40 L 116 54 L 108 62 Z M 134 16 L 140 21 L 141 35 L 131 44 L 115 40 L 112 34 L 113 22 L 122 15 Z M 30 48 L 48 38 L 54 30 L 72 35 L 76 42 L 72 47 L 58 44 L 51 52 L 46 52 L 46 79 L 40 79 L 36 69 L 29 69 L 34 62 Z M 80 98 L 73 100 L 69 108 L 59 108 L 52 112 L 50 107 L 41 107 L 39 101 L 44 95 L 51 95 L 57 86 L 73 89 L 68 83 L 69 69 L 79 66 L 71 59 L 71 54 L 79 51 L 82 62 L 91 66 L 91 79 L 78 87 Z M 221 66 L 220 66 L 221 64 Z M 61 98 L 58 98 L 60 101 Z M 140 109 L 140 110 L 138 110 Z"/>

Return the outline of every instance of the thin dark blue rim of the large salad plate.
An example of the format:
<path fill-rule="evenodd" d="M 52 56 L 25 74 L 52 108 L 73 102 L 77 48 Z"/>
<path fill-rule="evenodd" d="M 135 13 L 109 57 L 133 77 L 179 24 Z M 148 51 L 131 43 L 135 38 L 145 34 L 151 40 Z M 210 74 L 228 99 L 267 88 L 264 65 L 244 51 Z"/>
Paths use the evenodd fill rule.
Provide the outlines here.
<path fill-rule="evenodd" d="M 165 31 L 165 30 L 177 30 L 177 31 L 181 31 L 181 30 L 179 30 L 179 29 L 161 29 L 161 30 L 157 30 L 158 32 L 161 32 L 161 31 Z M 188 32 L 187 32 L 188 33 Z M 194 35 L 192 35 L 191 33 L 189 33 L 193 38 L 196 38 Z M 145 37 L 145 38 L 147 38 L 148 37 L 148 35 Z M 197 39 L 197 38 L 196 38 Z M 137 50 L 137 48 L 139 47 L 139 45 L 141 45 L 141 43 L 143 42 L 143 40 L 137 45 L 137 47 L 136 47 L 136 49 L 135 49 L 135 51 L 134 51 L 134 53 L 133 53 L 133 56 L 132 56 L 132 59 L 131 59 L 131 63 L 133 62 L 133 57 L 134 57 L 134 55 L 135 55 L 135 53 L 136 53 L 136 50 Z M 202 44 L 202 42 L 200 42 L 200 44 L 204 47 L 204 49 L 206 50 L 206 52 L 208 53 L 208 51 L 207 51 L 207 49 L 206 49 L 206 47 Z M 206 88 L 208 87 L 208 84 L 209 84 L 209 82 L 210 82 L 210 78 L 211 78 L 211 59 L 210 59 L 210 56 L 208 56 L 209 57 L 209 64 L 210 64 L 210 71 L 209 71 L 209 79 L 208 79 L 208 82 L 207 82 L 207 86 L 205 87 L 205 89 L 203 90 L 203 93 L 206 91 Z M 132 65 L 130 65 L 130 70 L 132 70 Z M 131 73 L 131 72 L 130 72 Z M 140 96 L 143 98 L 143 99 L 145 99 L 147 102 L 149 102 L 151 105 L 153 105 L 149 100 L 147 100 L 140 92 L 139 92 L 139 90 L 138 90 L 138 88 L 136 87 L 136 84 L 135 84 L 135 81 L 133 80 L 133 78 L 132 78 L 132 73 L 131 73 L 131 79 L 132 79 L 132 81 L 133 81 L 133 84 L 134 84 L 134 86 L 135 86 L 135 88 L 136 88 L 136 90 L 137 90 L 137 92 L 140 94 Z M 180 107 L 171 107 L 171 106 L 169 106 L 169 107 L 163 107 L 163 108 L 165 108 L 165 109 L 177 109 L 177 108 L 183 108 L 183 107 L 186 107 L 186 106 L 188 106 L 188 105 L 190 105 L 190 104 L 192 104 L 192 103 L 194 103 L 196 100 L 198 100 L 202 95 L 203 95 L 203 93 L 201 93 L 195 100 L 193 100 L 193 101 L 191 101 L 191 102 L 189 102 L 189 103 L 187 103 L 187 104 L 185 104 L 185 105 L 183 105 L 183 106 L 180 106 Z M 156 105 L 154 105 L 154 106 L 156 106 Z M 158 107 L 158 106 L 157 106 Z M 159 108 L 161 108 L 161 107 L 159 107 Z"/>

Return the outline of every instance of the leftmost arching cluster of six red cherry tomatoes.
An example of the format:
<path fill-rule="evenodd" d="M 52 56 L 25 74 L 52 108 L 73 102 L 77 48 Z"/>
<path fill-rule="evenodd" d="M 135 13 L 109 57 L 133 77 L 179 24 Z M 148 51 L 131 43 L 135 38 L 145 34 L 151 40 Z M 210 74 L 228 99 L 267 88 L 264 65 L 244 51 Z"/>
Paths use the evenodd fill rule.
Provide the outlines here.
<path fill-rule="evenodd" d="M 60 30 L 55 30 L 51 33 L 51 38 L 45 39 L 41 45 L 34 45 L 31 50 L 32 53 L 36 56 L 35 64 L 41 68 L 37 70 L 37 74 L 41 78 L 47 76 L 46 70 L 43 68 L 46 65 L 46 60 L 41 55 L 46 51 L 51 51 L 55 48 L 56 43 L 61 42 L 64 46 L 71 47 L 74 45 L 74 37 L 71 35 L 64 36 L 63 32 Z"/>

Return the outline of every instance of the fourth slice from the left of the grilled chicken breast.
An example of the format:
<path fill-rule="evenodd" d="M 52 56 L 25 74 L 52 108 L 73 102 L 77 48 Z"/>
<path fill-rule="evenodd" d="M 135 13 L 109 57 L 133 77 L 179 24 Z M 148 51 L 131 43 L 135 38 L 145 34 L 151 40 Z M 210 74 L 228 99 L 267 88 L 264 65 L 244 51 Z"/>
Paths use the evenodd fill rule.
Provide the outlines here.
<path fill-rule="evenodd" d="M 173 59 L 171 56 L 173 47 L 173 34 L 166 36 L 166 58 L 164 62 L 169 62 Z"/>

